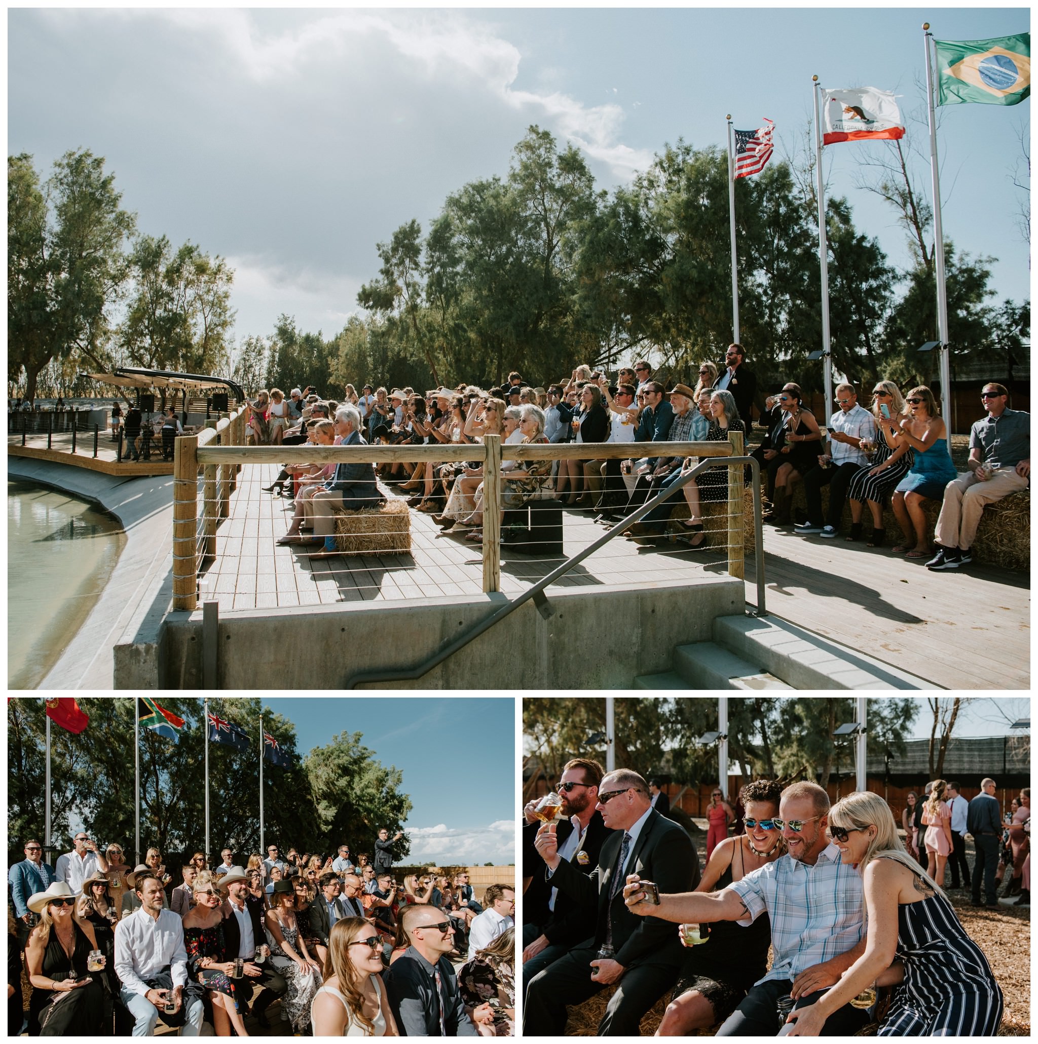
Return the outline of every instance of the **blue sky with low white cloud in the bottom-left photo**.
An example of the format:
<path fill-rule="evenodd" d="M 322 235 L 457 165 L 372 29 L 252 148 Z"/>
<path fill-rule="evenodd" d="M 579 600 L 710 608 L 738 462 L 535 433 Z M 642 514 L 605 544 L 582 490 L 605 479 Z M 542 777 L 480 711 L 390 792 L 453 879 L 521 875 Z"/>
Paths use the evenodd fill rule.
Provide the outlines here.
<path fill-rule="evenodd" d="M 515 861 L 512 697 L 283 696 L 263 705 L 296 726 L 300 754 L 360 732 L 377 761 L 403 773 L 414 805 L 405 827 L 411 858 Z M 478 799 L 455 800 L 462 791 Z"/>

